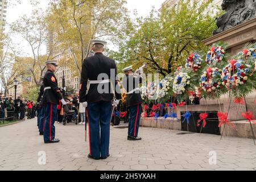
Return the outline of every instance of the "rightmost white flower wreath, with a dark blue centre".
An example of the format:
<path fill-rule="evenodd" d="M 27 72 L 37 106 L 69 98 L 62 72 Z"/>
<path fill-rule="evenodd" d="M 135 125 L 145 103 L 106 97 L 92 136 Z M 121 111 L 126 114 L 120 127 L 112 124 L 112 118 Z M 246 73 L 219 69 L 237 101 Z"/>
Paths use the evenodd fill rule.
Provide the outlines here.
<path fill-rule="evenodd" d="M 179 73 L 175 78 L 174 78 L 174 85 L 172 90 L 176 94 L 183 94 L 186 90 L 186 86 L 190 84 L 190 79 L 191 77 L 188 76 L 188 73 Z"/>

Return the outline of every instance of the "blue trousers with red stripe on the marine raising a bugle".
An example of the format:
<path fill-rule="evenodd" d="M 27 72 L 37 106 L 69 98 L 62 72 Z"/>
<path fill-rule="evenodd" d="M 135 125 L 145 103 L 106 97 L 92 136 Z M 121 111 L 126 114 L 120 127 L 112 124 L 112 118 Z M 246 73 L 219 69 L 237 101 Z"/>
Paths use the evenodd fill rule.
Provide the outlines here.
<path fill-rule="evenodd" d="M 142 113 L 141 104 L 128 107 L 129 110 L 129 125 L 128 125 L 128 136 L 138 137 L 139 121 Z"/>

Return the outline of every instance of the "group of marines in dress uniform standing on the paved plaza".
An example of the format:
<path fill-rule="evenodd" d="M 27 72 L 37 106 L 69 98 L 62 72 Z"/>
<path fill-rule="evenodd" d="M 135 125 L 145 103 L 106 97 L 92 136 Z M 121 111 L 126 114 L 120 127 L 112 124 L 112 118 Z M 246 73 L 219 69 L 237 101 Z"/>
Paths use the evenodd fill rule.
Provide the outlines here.
<path fill-rule="evenodd" d="M 92 40 L 94 56 L 88 57 L 82 64 L 80 98 L 79 101 L 87 107 L 89 127 L 89 155 L 91 159 L 106 159 L 109 157 L 110 121 L 113 107 L 116 107 L 121 100 L 121 92 L 117 78 L 117 67 L 115 61 L 104 56 L 106 42 Z M 42 106 L 38 117 L 40 135 L 44 136 L 44 143 L 57 143 L 55 138 L 55 120 L 57 117 L 56 107 L 59 101 L 63 105 L 67 103 L 61 96 L 57 79 L 54 72 L 57 68 L 57 61 L 46 62 L 47 72 L 43 77 L 43 84 L 40 88 L 38 102 Z M 114 79 L 112 71 L 114 70 Z M 128 140 L 141 140 L 138 137 L 139 120 L 142 113 L 142 98 L 139 93 L 139 82 L 141 75 L 135 77 L 133 68 L 123 69 L 123 87 L 127 91 L 127 107 L 129 110 Z M 104 74 L 108 78 L 102 79 Z M 130 84 L 129 84 L 130 83 Z M 101 92 L 98 88 L 102 88 Z"/>

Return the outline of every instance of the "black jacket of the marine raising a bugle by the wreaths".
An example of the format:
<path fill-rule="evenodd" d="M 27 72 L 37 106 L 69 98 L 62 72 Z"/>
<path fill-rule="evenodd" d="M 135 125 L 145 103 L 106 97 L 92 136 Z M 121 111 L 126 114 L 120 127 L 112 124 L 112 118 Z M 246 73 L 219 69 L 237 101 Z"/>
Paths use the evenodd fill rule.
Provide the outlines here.
<path fill-rule="evenodd" d="M 129 82 L 133 83 L 133 85 L 129 85 Z M 142 77 L 135 78 L 133 75 L 125 76 L 123 78 L 123 88 L 125 88 L 126 92 L 129 93 L 133 89 L 139 88 L 139 83 L 141 82 L 142 82 Z M 139 90 L 127 95 L 127 98 L 126 98 L 127 107 L 142 104 L 142 102 L 143 100 L 141 98 L 141 93 L 139 93 Z"/>

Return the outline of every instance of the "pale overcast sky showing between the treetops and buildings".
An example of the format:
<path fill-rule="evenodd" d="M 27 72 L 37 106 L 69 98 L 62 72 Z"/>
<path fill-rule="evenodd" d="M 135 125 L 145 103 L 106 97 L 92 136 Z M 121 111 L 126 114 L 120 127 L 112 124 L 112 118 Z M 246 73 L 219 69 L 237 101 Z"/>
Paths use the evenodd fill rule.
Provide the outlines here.
<path fill-rule="evenodd" d="M 48 2 L 48 0 L 41 0 L 40 6 L 43 9 L 47 9 Z M 131 12 L 131 16 L 133 15 L 134 9 L 137 9 L 139 16 L 147 16 L 153 6 L 158 10 L 163 2 L 164 0 L 127 0 L 127 8 Z M 21 0 L 21 3 L 16 6 L 9 6 L 6 14 L 7 23 L 14 22 L 19 16 L 24 14 L 30 15 L 32 9 L 33 7 L 30 5 L 30 0 Z M 8 31 L 8 28 L 6 28 L 6 30 Z M 30 49 L 22 39 L 14 38 L 14 42 L 20 44 L 20 47 L 22 47 L 24 52 L 23 56 L 30 55 Z"/>

